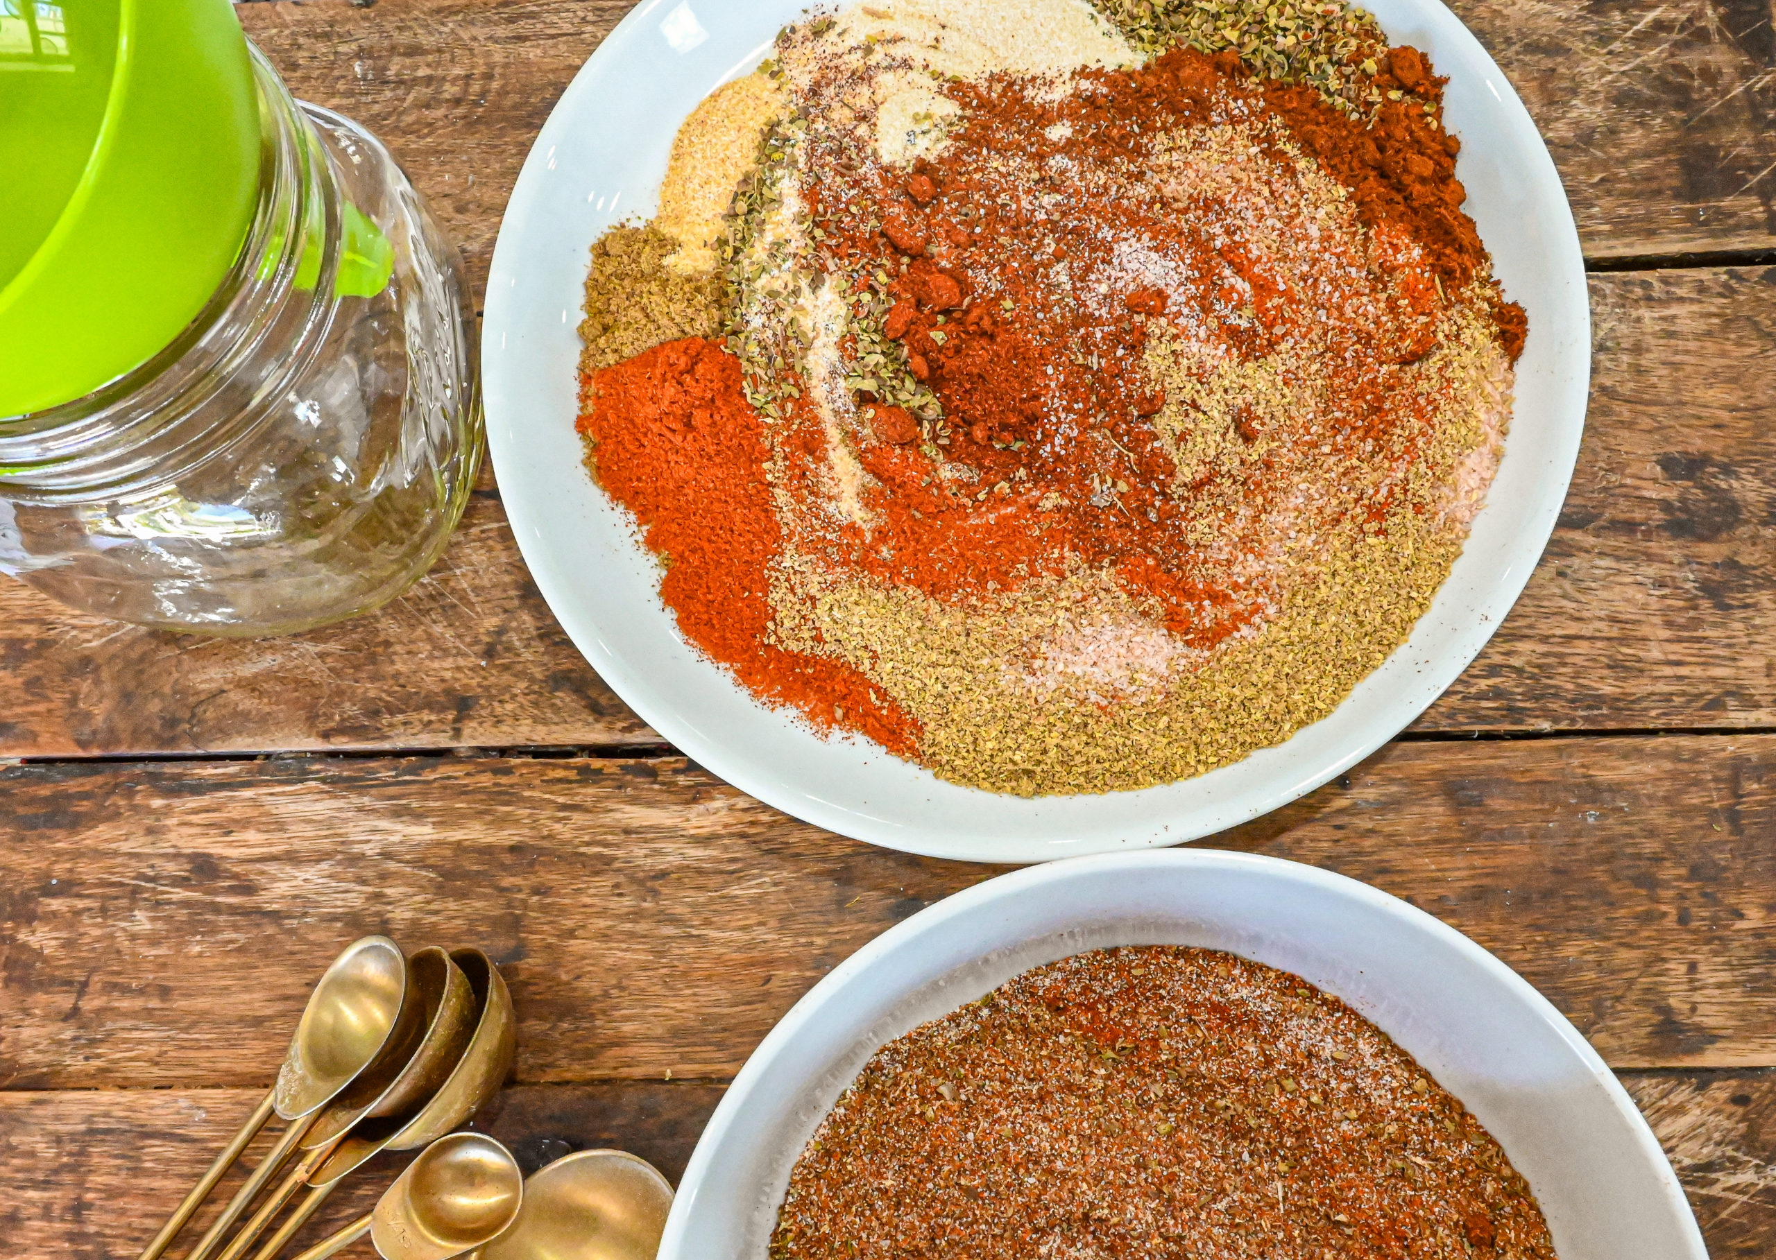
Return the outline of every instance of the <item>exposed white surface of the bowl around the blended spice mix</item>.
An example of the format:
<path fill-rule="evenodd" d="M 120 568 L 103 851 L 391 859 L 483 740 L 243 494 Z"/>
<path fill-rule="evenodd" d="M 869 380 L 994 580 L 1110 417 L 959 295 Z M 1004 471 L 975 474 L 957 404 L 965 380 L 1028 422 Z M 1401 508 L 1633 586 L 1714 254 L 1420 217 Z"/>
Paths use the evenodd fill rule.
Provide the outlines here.
<path fill-rule="evenodd" d="M 1114 944 L 1229 949 L 1343 997 L 1499 1139 L 1561 1260 L 1707 1260 L 1627 1091 L 1517 973 L 1366 884 L 1211 848 L 1002 875 L 863 946 L 741 1068 L 678 1184 L 659 1260 L 762 1260 L 790 1166 L 877 1047 L 1021 971 Z"/>

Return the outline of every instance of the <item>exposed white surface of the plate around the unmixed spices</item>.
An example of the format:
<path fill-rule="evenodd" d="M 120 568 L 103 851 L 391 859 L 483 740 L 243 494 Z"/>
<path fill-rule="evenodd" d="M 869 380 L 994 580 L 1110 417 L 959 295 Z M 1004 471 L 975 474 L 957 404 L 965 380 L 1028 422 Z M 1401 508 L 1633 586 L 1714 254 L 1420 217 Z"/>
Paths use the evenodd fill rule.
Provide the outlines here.
<path fill-rule="evenodd" d="M 1373 752 L 1467 667 L 1522 591 L 1579 453 L 1590 312 L 1572 213 L 1504 75 L 1435 0 L 1369 5 L 1449 76 L 1456 174 L 1506 293 L 1529 311 L 1511 435 L 1487 509 L 1431 610 L 1330 717 L 1185 783 L 996 797 L 765 710 L 678 635 L 630 524 L 581 469 L 575 362 L 588 247 L 652 213 L 678 122 L 751 71 L 801 0 L 645 0 L 586 62 L 531 149 L 499 229 L 483 328 L 499 488 L 543 598 L 655 731 L 751 795 L 858 839 L 938 857 L 1043 861 L 1174 845 L 1275 809 Z"/>

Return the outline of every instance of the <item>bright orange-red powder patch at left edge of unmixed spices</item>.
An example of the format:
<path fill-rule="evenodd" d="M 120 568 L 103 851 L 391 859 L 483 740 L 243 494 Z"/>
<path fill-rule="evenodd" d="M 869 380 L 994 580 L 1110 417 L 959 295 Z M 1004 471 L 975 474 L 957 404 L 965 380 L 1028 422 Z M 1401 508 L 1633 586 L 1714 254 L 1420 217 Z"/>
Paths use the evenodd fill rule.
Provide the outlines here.
<path fill-rule="evenodd" d="M 771 642 L 767 589 L 783 536 L 739 360 L 700 337 L 673 341 L 590 376 L 583 408 L 588 467 L 666 566 L 661 598 L 686 639 L 753 694 L 908 756 L 918 728 L 868 678 Z"/>

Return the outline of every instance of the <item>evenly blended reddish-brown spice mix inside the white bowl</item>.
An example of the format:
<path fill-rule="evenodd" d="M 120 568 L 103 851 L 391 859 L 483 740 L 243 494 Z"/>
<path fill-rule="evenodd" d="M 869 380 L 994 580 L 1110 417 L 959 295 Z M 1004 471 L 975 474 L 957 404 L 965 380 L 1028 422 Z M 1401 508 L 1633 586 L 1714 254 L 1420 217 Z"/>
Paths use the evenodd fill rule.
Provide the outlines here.
<path fill-rule="evenodd" d="M 1339 999 L 1098 949 L 895 1038 L 821 1122 L 773 1260 L 1554 1260 L 1462 1102 Z"/>

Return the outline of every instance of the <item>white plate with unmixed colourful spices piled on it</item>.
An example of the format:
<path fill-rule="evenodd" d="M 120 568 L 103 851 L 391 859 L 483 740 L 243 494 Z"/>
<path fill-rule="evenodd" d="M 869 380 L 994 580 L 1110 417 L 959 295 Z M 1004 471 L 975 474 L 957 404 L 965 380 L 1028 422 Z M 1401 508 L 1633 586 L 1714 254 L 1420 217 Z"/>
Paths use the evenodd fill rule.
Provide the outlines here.
<path fill-rule="evenodd" d="M 1318 786 L 1556 518 L 1577 236 L 1440 5 L 645 4 L 513 193 L 540 589 L 753 795 L 987 861 Z"/>

